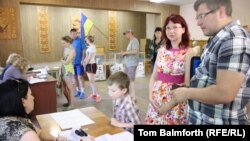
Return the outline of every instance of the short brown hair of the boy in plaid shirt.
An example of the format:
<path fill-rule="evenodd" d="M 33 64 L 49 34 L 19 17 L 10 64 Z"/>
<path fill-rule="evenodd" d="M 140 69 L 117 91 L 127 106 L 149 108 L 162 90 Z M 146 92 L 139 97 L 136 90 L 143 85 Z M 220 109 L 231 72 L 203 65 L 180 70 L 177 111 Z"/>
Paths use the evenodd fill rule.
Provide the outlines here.
<path fill-rule="evenodd" d="M 116 72 L 109 76 L 107 83 L 109 86 L 113 84 L 117 84 L 118 87 L 122 90 L 124 88 L 127 89 L 127 93 L 129 93 L 129 83 L 130 79 L 128 75 L 122 71 Z"/>

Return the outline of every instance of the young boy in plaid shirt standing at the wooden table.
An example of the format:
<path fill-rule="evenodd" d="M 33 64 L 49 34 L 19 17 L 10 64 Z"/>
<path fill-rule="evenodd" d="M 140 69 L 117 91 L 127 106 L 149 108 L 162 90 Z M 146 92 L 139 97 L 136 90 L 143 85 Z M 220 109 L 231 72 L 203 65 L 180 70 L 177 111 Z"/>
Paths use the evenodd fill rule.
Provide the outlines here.
<path fill-rule="evenodd" d="M 128 75 L 116 72 L 108 80 L 109 96 L 113 99 L 111 124 L 134 133 L 134 124 L 140 124 L 139 110 L 129 94 Z"/>

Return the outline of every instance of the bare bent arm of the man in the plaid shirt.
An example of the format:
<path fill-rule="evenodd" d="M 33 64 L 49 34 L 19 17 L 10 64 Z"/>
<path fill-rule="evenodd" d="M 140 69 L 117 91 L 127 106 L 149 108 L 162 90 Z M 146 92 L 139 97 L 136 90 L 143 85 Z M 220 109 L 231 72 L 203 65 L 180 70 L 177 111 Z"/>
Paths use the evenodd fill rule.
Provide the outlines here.
<path fill-rule="evenodd" d="M 206 88 L 179 88 L 173 90 L 173 100 L 183 102 L 187 99 L 196 100 L 205 104 L 224 104 L 235 99 L 244 74 L 228 70 L 217 70 L 216 84 Z"/>

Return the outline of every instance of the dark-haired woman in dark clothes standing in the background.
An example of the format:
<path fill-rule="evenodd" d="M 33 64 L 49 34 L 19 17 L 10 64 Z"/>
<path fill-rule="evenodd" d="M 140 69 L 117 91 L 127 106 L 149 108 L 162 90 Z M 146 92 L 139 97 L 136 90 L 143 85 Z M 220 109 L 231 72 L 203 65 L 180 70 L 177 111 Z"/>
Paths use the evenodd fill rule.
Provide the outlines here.
<path fill-rule="evenodd" d="M 150 41 L 149 44 L 149 56 L 151 58 L 151 72 L 153 72 L 154 65 L 155 65 L 155 60 L 157 56 L 157 51 L 161 47 L 163 43 L 162 40 L 162 28 L 161 27 L 156 27 L 154 31 L 154 38 L 153 40 Z"/>

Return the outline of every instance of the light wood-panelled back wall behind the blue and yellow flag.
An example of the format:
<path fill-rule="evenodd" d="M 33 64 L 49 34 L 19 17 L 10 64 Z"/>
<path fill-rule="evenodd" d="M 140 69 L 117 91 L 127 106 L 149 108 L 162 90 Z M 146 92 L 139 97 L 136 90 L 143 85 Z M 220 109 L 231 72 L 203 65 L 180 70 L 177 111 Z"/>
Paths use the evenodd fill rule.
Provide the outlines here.
<path fill-rule="evenodd" d="M 24 56 L 32 62 L 58 61 L 62 57 L 63 47 L 61 47 L 61 37 L 69 35 L 72 28 L 72 16 L 85 14 L 94 23 L 91 35 L 95 36 L 95 44 L 98 47 L 105 47 L 108 52 L 108 11 L 91 10 L 80 8 L 65 8 L 48 6 L 49 15 L 49 35 L 51 52 L 40 54 L 38 44 L 38 14 L 35 5 L 21 5 L 22 41 Z M 128 29 L 134 29 L 135 36 L 145 38 L 146 35 L 146 15 L 139 12 L 117 12 L 117 50 L 124 50 L 128 40 L 122 33 Z M 31 53 L 32 51 L 32 53 Z"/>

